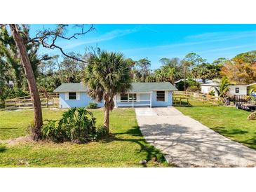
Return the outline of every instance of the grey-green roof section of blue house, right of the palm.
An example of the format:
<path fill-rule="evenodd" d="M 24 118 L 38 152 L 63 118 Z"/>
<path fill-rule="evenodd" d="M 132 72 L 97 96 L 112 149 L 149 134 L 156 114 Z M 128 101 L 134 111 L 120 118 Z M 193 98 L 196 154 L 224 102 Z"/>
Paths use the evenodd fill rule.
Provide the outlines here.
<path fill-rule="evenodd" d="M 177 90 L 177 88 L 169 82 L 132 83 L 132 88 L 129 92 L 151 92 L 152 90 Z"/>

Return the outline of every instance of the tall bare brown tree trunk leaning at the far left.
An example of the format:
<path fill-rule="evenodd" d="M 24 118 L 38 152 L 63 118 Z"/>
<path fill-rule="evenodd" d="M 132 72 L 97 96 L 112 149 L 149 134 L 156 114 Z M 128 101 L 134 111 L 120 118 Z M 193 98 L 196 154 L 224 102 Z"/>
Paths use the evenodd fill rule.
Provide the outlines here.
<path fill-rule="evenodd" d="M 36 80 L 34 78 L 34 72 L 27 55 L 27 50 L 24 45 L 23 39 L 18 33 L 18 25 L 10 24 L 13 39 L 18 48 L 22 66 L 25 71 L 25 76 L 27 78 L 27 83 L 29 85 L 29 92 L 32 99 L 34 107 L 34 127 L 32 128 L 32 139 L 38 140 L 41 137 L 41 126 L 43 125 L 43 117 L 41 110 L 41 102 L 39 97 L 39 92 L 36 87 Z"/>

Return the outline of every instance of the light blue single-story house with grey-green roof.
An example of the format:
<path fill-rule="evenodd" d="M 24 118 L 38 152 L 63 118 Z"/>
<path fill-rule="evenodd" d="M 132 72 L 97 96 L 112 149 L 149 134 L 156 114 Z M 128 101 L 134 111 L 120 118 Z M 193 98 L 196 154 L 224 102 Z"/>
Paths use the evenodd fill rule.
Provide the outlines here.
<path fill-rule="evenodd" d="M 86 94 L 83 83 L 62 83 L 53 92 L 60 93 L 60 108 L 86 107 L 95 102 Z M 115 107 L 170 107 L 173 105 L 173 91 L 177 90 L 171 83 L 132 83 L 128 92 L 115 95 Z M 103 107 L 104 102 L 97 102 Z"/>

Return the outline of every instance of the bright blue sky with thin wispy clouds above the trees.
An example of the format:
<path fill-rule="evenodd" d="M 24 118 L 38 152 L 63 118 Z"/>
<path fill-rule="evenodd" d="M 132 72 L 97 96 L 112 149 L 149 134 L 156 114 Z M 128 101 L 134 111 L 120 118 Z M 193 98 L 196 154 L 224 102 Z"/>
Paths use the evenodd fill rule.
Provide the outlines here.
<path fill-rule="evenodd" d="M 32 35 L 42 27 L 55 25 L 32 25 Z M 75 31 L 70 26 L 66 33 Z M 76 40 L 60 40 L 58 44 L 67 53 L 84 53 L 86 46 L 97 46 L 122 52 L 133 60 L 148 57 L 151 69 L 156 69 L 162 57 L 182 58 L 193 52 L 213 62 L 218 57 L 231 58 L 256 50 L 256 25 L 95 25 L 95 31 Z M 60 54 L 58 50 L 40 51 Z"/>

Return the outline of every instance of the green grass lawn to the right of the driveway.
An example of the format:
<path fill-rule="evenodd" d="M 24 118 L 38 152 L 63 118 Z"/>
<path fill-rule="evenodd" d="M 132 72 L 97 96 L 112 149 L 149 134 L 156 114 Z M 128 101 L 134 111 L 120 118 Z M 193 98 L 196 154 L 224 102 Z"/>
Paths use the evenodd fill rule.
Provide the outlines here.
<path fill-rule="evenodd" d="M 190 101 L 191 107 L 175 107 L 184 115 L 191 116 L 236 142 L 256 149 L 256 121 L 248 121 L 248 111 L 234 107 L 214 107 Z"/>

